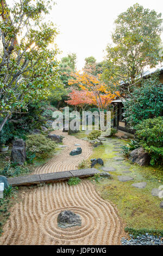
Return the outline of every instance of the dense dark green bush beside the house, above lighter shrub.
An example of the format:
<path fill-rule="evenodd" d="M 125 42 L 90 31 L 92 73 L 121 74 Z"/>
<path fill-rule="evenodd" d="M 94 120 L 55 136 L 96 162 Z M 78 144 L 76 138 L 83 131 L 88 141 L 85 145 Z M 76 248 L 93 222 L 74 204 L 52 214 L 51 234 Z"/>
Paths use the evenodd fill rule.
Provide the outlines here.
<path fill-rule="evenodd" d="M 124 117 L 131 129 L 140 121 L 159 117 L 163 108 L 163 87 L 156 73 L 148 79 L 143 79 L 142 86 L 136 88 L 130 99 L 124 102 Z"/>

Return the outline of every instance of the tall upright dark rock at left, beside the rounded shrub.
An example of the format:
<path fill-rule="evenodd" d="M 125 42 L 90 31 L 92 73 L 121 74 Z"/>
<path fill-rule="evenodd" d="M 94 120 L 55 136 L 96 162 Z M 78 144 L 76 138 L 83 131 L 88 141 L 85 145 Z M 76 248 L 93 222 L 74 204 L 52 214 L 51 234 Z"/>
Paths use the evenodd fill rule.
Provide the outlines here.
<path fill-rule="evenodd" d="M 11 149 L 11 161 L 23 165 L 26 157 L 26 143 L 23 139 L 16 139 Z"/>

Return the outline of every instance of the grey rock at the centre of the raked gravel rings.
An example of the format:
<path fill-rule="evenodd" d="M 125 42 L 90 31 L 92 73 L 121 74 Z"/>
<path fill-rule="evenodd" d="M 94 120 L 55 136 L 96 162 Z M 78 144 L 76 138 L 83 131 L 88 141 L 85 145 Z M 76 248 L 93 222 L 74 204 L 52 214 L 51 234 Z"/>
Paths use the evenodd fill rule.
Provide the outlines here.
<path fill-rule="evenodd" d="M 57 218 L 58 227 L 70 228 L 76 225 L 82 225 L 82 219 L 80 215 L 74 214 L 72 211 L 61 211 Z"/>

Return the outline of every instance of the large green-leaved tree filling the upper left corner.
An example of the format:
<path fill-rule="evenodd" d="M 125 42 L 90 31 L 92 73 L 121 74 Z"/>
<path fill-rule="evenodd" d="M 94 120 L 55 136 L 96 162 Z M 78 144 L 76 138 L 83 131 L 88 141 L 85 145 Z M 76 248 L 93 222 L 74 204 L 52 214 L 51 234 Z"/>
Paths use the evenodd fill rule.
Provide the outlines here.
<path fill-rule="evenodd" d="M 20 0 L 9 8 L 1 0 L 0 131 L 12 113 L 27 111 L 31 102 L 46 99 L 60 87 L 54 44 L 58 32 L 53 23 L 43 20 L 51 3 Z"/>

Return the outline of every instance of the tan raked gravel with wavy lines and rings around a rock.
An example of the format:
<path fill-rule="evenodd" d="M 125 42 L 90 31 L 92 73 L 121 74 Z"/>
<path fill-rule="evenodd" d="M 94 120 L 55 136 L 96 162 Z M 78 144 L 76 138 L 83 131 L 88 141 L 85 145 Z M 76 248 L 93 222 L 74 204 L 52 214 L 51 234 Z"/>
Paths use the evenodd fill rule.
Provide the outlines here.
<path fill-rule="evenodd" d="M 65 139 L 67 138 L 70 142 L 69 136 L 66 135 Z M 68 141 L 66 144 L 72 148 L 72 142 Z M 77 141 L 81 145 L 84 144 L 81 140 Z M 91 148 L 89 150 L 91 152 Z M 62 152 L 62 157 L 63 154 L 66 153 Z M 83 154 L 85 156 L 85 152 Z M 64 157 L 62 161 L 66 164 Z M 81 159 L 76 157 L 76 164 L 78 161 Z M 55 157 L 50 162 L 53 163 L 53 168 L 49 164 L 52 171 L 55 169 Z M 71 161 L 68 168 L 73 167 L 74 162 Z M 123 223 L 115 207 L 98 196 L 90 181 L 84 179 L 77 186 L 69 186 L 67 182 L 62 181 L 41 187 L 35 186 L 26 191 L 22 193 L 21 202 L 11 209 L 9 220 L 4 226 L 4 234 L 0 237 L 0 245 L 120 244 Z M 82 225 L 66 229 L 58 227 L 57 216 L 62 210 L 79 214 Z"/>

